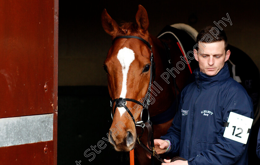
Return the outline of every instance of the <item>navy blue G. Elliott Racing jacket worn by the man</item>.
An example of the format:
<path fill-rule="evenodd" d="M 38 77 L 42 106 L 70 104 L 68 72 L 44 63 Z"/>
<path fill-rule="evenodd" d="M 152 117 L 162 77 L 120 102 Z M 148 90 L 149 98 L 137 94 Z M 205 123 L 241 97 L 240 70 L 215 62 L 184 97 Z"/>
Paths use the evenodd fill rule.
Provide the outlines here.
<path fill-rule="evenodd" d="M 248 142 L 223 137 L 229 113 L 253 118 L 253 104 L 245 89 L 230 78 L 228 66 L 215 76 L 194 71 L 196 82 L 181 92 L 179 110 L 161 139 L 171 141 L 166 154 L 180 153 L 189 165 L 248 164 Z M 249 141 L 249 140 L 248 140 Z"/>

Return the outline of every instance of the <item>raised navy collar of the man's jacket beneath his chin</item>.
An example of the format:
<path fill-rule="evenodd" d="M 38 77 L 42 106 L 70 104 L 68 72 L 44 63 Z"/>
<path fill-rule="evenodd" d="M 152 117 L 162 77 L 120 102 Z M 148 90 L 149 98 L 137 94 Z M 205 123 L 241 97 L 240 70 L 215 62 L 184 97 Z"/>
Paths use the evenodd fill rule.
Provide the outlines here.
<path fill-rule="evenodd" d="M 223 68 L 220 69 L 219 73 L 215 76 L 209 76 L 205 73 L 202 73 L 200 68 L 195 69 L 193 73 L 195 74 L 197 84 L 203 86 L 218 84 L 230 78 L 227 63 L 224 64 Z"/>

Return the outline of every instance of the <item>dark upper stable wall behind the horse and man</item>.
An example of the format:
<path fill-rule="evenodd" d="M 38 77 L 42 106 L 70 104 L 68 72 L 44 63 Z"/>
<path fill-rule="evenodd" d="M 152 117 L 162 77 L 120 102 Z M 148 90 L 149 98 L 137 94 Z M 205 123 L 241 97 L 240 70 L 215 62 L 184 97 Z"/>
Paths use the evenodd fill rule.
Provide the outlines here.
<path fill-rule="evenodd" d="M 149 17 L 149 32 L 156 36 L 165 25 L 185 23 L 197 31 L 230 16 L 223 29 L 228 42 L 247 53 L 260 68 L 258 52 L 258 4 L 238 1 L 71 1 L 59 2 L 59 86 L 106 86 L 103 62 L 111 46 L 111 37 L 103 30 L 104 8 L 118 23 L 135 22 L 138 4 Z M 155 55 L 156 56 L 156 55 Z M 231 54 L 231 56 L 236 56 Z M 243 60 L 243 59 L 241 59 Z"/>

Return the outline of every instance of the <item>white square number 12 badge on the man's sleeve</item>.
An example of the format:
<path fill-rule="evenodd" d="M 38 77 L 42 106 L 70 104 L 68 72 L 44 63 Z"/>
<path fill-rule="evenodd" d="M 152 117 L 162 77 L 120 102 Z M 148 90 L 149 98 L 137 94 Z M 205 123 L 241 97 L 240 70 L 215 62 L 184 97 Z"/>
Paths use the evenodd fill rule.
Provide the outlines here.
<path fill-rule="evenodd" d="M 240 143 L 247 143 L 253 119 L 230 112 L 223 136 Z"/>

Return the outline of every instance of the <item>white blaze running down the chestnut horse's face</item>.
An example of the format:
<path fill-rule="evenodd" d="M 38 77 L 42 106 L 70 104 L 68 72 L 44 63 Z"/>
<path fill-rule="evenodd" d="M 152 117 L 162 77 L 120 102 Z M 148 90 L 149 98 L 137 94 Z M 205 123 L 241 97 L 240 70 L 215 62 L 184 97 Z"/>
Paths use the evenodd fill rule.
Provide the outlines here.
<path fill-rule="evenodd" d="M 127 74 L 130 67 L 130 64 L 135 59 L 135 53 L 131 49 L 124 47 L 123 49 L 120 49 L 117 54 L 117 59 L 119 60 L 121 66 L 122 66 L 122 72 L 123 72 L 123 82 L 122 82 L 122 90 L 120 97 L 125 98 L 126 96 L 126 82 L 127 82 Z M 124 107 L 118 107 L 119 113 L 122 116 L 126 109 Z"/>

